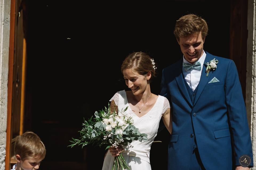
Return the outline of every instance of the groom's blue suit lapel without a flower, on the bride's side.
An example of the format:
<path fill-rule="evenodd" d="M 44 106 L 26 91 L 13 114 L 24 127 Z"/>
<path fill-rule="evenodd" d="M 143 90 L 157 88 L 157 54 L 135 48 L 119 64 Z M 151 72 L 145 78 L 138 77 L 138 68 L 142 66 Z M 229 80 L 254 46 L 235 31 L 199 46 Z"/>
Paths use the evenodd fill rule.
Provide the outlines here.
<path fill-rule="evenodd" d="M 187 92 L 187 88 L 185 86 L 185 82 L 184 82 L 184 78 L 183 78 L 183 73 L 182 73 L 182 60 L 180 60 L 180 64 L 178 64 L 178 68 L 177 71 L 179 73 L 179 75 L 175 78 L 176 82 L 182 92 L 182 94 L 184 95 L 185 99 L 187 100 L 187 103 L 190 104 L 190 107 L 193 106 L 192 101 L 190 99 L 189 93 Z"/>

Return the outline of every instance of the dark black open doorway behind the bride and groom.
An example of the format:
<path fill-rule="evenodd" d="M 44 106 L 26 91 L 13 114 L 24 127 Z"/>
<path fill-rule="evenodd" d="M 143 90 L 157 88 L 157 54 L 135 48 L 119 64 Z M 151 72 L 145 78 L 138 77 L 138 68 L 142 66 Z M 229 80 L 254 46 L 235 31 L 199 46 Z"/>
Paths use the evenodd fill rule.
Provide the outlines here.
<path fill-rule="evenodd" d="M 68 148 L 79 137 L 83 117 L 127 89 L 120 66 L 131 52 L 147 52 L 158 64 L 151 84 L 160 92 L 161 71 L 182 57 L 173 35 L 175 21 L 194 13 L 206 19 L 204 50 L 229 58 L 230 1 L 99 2 L 29 1 L 25 130 L 45 143 L 40 166 L 47 169 L 101 169 L 104 148 Z M 128 90 L 128 89 L 127 89 Z M 167 169 L 169 134 L 151 147 L 152 169 Z M 181 158 L 182 159 L 182 158 Z"/>

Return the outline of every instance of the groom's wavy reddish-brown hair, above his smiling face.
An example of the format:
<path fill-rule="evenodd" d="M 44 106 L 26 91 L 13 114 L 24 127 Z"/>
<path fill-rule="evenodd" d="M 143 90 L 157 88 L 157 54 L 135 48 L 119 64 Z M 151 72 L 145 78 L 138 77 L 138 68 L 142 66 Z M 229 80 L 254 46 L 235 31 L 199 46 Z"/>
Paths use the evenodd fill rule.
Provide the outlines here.
<path fill-rule="evenodd" d="M 179 41 L 179 38 L 187 37 L 191 34 L 202 33 L 202 39 L 205 39 L 208 33 L 208 25 L 201 17 L 194 14 L 182 16 L 176 21 L 174 35 Z"/>

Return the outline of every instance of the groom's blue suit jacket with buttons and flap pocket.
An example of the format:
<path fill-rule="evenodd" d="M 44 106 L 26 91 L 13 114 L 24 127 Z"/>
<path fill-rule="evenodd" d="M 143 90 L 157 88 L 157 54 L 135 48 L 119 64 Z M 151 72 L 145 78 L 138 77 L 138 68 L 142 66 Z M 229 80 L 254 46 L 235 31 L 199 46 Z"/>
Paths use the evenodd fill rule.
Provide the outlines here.
<path fill-rule="evenodd" d="M 202 66 L 194 103 L 183 80 L 183 60 L 163 69 L 161 95 L 169 99 L 173 108 L 173 130 L 168 150 L 169 170 L 189 169 L 194 137 L 207 170 L 232 169 L 232 165 L 239 165 L 242 155 L 250 156 L 250 165 L 253 166 L 246 108 L 235 63 L 206 52 L 205 62 L 214 58 L 219 63 L 208 77 L 206 66 Z M 219 82 L 208 83 L 214 77 Z M 190 137 L 192 133 L 194 137 Z M 231 139 L 234 141 L 233 147 Z"/>

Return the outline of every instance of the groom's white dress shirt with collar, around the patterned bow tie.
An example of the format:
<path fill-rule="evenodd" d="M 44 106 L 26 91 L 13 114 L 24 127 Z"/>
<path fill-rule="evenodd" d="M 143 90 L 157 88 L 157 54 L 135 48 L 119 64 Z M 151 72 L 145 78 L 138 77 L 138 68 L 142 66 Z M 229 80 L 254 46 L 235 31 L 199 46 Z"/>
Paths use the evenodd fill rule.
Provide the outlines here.
<path fill-rule="evenodd" d="M 197 85 L 199 84 L 200 81 L 200 77 L 202 74 L 202 70 L 203 70 L 203 63 L 205 61 L 205 57 L 206 57 L 206 53 L 203 50 L 203 55 L 199 58 L 199 62 L 201 63 L 201 71 L 195 69 L 195 68 L 191 68 L 190 70 L 185 71 L 183 66 L 182 66 L 182 71 L 183 71 L 183 75 L 185 77 L 185 80 L 187 82 L 187 84 L 189 85 L 189 87 L 194 91 L 195 88 L 197 88 Z M 198 62 L 196 61 L 196 62 Z M 183 56 L 183 62 L 184 63 L 189 63 L 187 60 L 185 60 L 184 56 Z"/>

